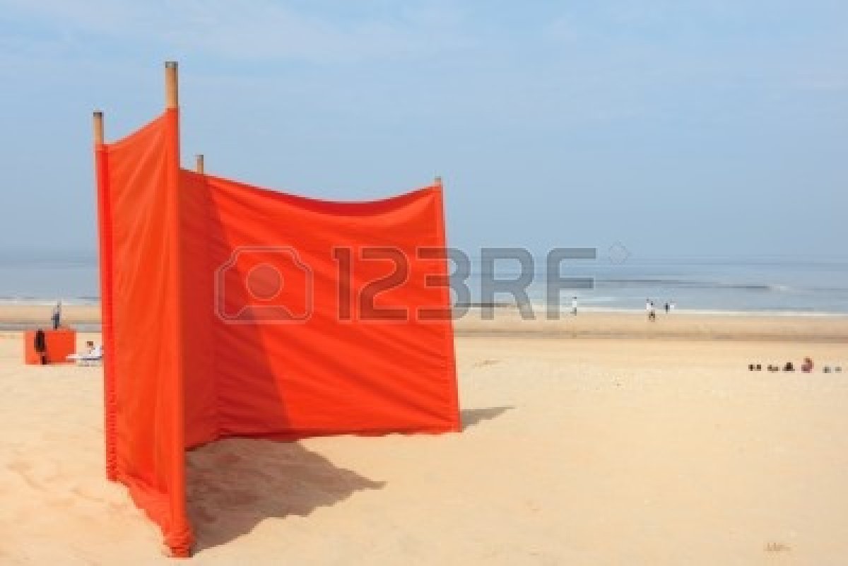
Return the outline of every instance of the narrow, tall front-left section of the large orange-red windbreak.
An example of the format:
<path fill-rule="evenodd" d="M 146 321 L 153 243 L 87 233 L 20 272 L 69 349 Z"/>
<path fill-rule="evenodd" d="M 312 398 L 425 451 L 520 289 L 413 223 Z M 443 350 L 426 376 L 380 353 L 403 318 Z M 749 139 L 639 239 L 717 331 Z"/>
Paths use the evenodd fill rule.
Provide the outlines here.
<path fill-rule="evenodd" d="M 176 109 L 97 153 L 107 468 L 187 556 Z"/>

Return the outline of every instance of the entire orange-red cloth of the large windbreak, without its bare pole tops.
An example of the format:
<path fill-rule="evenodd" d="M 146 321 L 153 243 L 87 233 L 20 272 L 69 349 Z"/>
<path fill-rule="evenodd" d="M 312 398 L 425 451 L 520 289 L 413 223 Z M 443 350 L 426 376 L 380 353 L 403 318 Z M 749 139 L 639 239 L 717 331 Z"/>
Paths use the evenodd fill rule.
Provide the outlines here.
<path fill-rule="evenodd" d="M 95 154 L 107 474 L 184 557 L 187 448 L 460 419 L 441 187 L 332 203 L 198 175 L 178 124 Z"/>

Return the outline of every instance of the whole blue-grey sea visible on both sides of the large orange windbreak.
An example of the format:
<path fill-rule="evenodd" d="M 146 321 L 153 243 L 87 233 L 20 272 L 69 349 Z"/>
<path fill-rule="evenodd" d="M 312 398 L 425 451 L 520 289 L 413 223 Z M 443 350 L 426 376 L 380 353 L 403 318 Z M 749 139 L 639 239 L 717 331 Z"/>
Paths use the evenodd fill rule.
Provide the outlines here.
<path fill-rule="evenodd" d="M 527 300 L 544 308 L 547 274 L 544 257 L 536 258 Z M 541 266 L 541 267 L 540 267 Z M 471 274 L 454 277 L 455 300 L 472 304 L 515 304 L 505 292 L 488 292 L 498 282 L 521 275 L 516 262 L 498 261 L 484 269 L 471 261 Z M 560 291 L 561 309 L 644 311 L 653 301 L 675 310 L 703 314 L 848 314 L 848 258 L 689 257 L 639 258 L 611 261 L 574 260 L 560 269 L 561 277 L 581 279 L 576 288 Z M 0 304 L 97 304 L 98 263 L 93 253 L 15 253 L 0 255 Z M 522 297 L 518 300 L 523 302 Z"/>

